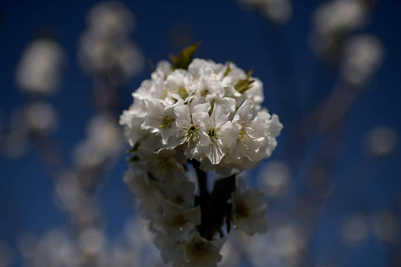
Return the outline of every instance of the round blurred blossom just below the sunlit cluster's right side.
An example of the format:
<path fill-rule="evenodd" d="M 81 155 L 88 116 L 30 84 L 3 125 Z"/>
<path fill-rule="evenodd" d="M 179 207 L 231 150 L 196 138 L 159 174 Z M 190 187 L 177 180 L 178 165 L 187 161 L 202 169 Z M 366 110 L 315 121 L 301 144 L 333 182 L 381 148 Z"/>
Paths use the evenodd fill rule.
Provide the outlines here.
<path fill-rule="evenodd" d="M 282 197 L 287 193 L 291 177 L 291 169 L 286 163 L 270 161 L 259 172 L 258 188 L 267 197 Z"/>

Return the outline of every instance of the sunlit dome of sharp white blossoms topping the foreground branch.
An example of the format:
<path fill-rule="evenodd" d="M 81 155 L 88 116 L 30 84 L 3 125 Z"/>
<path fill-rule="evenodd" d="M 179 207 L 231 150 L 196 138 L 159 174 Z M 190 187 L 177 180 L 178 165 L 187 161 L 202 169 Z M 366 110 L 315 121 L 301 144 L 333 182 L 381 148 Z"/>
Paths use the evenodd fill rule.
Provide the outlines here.
<path fill-rule="evenodd" d="M 277 115 L 261 109 L 262 82 L 231 62 L 196 58 L 188 70 L 159 62 L 132 95 L 120 117 L 126 138 L 146 161 L 175 157 L 170 177 L 183 171 L 182 152 L 203 171 L 249 169 L 271 155 L 283 128 Z"/>

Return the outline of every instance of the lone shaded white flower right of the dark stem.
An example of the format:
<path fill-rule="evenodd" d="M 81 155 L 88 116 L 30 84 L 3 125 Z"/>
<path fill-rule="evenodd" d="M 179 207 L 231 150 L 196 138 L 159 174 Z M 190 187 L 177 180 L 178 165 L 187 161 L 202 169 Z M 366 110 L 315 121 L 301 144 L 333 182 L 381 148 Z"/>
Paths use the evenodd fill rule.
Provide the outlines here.
<path fill-rule="evenodd" d="M 245 190 L 241 180 L 233 193 L 233 221 L 237 230 L 247 235 L 267 231 L 265 195 L 255 189 Z"/>

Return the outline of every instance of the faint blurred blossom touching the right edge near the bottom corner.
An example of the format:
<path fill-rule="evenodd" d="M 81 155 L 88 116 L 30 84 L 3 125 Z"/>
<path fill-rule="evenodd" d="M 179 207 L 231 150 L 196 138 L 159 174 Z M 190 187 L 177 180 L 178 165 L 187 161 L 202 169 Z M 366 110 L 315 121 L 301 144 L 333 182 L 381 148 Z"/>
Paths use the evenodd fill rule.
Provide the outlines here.
<path fill-rule="evenodd" d="M 387 243 L 399 244 L 400 227 L 399 219 L 387 211 L 383 211 L 374 217 L 373 230 L 377 237 Z"/>

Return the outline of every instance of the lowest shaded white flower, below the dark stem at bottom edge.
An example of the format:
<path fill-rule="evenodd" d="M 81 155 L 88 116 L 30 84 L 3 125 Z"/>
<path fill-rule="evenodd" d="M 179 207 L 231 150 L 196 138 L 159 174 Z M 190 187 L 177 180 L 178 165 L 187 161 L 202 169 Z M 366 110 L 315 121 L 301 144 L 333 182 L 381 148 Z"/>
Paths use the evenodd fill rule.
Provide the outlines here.
<path fill-rule="evenodd" d="M 199 236 L 198 233 L 194 233 L 190 242 L 184 246 L 184 267 L 217 266 L 217 263 L 222 259 L 221 247 L 226 241 L 226 237 L 208 241 Z"/>

